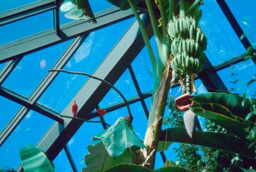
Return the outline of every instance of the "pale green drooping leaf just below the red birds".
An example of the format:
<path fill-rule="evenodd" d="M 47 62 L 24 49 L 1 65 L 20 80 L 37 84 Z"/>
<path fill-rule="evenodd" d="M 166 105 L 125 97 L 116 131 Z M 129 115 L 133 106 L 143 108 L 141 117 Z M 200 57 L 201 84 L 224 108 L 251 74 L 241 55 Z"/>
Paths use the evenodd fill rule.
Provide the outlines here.
<path fill-rule="evenodd" d="M 93 136 L 93 140 L 102 140 L 111 157 L 122 155 L 126 148 L 132 148 L 133 150 L 146 148 L 134 133 L 129 120 L 122 117 L 118 118 L 115 124 L 102 133 Z"/>

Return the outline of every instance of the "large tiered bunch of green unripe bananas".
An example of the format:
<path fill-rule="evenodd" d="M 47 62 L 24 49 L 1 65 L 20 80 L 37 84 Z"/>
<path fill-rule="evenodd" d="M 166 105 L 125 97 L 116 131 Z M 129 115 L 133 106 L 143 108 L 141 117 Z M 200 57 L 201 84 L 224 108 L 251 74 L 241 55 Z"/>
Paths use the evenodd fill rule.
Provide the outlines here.
<path fill-rule="evenodd" d="M 171 67 L 175 73 L 199 73 L 204 68 L 207 39 L 193 17 L 173 17 L 168 24 L 172 39 L 171 52 L 174 55 Z"/>

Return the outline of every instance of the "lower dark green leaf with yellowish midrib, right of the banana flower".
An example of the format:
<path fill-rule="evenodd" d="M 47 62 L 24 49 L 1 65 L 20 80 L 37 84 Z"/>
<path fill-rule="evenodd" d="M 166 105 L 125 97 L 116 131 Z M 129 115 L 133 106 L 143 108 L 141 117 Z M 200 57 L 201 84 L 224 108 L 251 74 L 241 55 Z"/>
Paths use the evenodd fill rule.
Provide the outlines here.
<path fill-rule="evenodd" d="M 250 125 L 247 125 L 246 122 L 232 118 L 232 113 L 220 104 L 200 103 L 194 104 L 190 109 L 197 115 L 225 127 L 227 131 L 230 131 L 241 138 L 246 138 L 248 135 L 245 130 Z"/>

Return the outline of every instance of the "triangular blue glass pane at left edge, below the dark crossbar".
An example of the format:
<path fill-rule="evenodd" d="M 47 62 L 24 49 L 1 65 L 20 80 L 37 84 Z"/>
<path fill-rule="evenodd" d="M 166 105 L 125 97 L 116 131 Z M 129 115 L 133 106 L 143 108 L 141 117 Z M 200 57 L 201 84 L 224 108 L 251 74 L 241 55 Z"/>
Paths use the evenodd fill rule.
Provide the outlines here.
<path fill-rule="evenodd" d="M 17 104 L 9 99 L 6 99 L 0 96 L 0 133 L 3 131 L 4 127 L 12 120 L 14 115 L 17 113 L 19 108 L 21 107 L 20 104 Z"/>

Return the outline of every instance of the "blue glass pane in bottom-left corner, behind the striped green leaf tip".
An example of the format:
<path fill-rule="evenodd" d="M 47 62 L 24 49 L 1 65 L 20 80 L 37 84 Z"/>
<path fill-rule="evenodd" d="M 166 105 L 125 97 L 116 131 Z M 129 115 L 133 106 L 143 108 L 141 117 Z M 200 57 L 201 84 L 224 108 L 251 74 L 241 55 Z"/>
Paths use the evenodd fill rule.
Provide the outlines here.
<path fill-rule="evenodd" d="M 53 120 L 30 110 L 15 131 L 0 147 L 0 169 L 20 165 L 19 149 L 28 143 L 36 145 L 53 124 Z"/>

